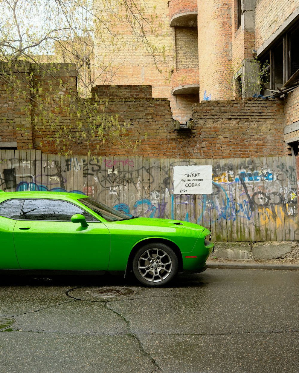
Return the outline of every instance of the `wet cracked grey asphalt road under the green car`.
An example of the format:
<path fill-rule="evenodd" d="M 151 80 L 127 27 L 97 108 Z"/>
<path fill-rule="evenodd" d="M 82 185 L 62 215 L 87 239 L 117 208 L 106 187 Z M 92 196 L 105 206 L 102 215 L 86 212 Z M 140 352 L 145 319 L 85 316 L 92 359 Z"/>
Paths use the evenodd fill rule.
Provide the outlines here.
<path fill-rule="evenodd" d="M 0 372 L 298 373 L 298 285 L 298 271 L 253 269 L 158 289 L 115 276 L 1 277 L 2 323 L 15 323 L 0 332 Z M 134 293 L 99 297 L 102 287 Z"/>

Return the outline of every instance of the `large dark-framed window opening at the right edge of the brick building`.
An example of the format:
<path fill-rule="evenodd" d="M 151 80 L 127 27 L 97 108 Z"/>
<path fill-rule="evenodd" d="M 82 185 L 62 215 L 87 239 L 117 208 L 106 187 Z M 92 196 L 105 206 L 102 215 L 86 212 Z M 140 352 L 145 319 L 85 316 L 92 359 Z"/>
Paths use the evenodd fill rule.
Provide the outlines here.
<path fill-rule="evenodd" d="M 264 80 L 263 95 L 279 91 L 299 69 L 298 40 L 299 27 L 297 23 L 261 57 L 263 72 L 267 69 L 267 81 Z"/>

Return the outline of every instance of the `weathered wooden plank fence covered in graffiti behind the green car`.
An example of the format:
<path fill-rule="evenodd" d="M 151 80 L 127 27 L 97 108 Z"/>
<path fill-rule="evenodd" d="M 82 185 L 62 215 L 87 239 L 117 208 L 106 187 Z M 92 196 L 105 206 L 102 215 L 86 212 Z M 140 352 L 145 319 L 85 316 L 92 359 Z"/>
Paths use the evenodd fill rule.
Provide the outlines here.
<path fill-rule="evenodd" d="M 173 194 L 173 166 L 212 166 L 212 194 Z M 0 151 L 0 189 L 68 191 L 128 216 L 195 222 L 214 241 L 299 239 L 295 157 L 157 159 Z"/>

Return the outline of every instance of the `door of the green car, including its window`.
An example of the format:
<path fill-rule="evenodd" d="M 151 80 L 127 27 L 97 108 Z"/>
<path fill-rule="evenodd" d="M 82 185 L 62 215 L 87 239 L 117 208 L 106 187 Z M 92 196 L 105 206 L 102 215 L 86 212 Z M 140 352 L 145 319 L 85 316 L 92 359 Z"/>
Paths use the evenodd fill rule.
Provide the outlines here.
<path fill-rule="evenodd" d="M 74 214 L 82 214 L 88 226 L 72 223 Z M 26 199 L 13 239 L 21 269 L 108 269 L 110 232 L 73 203 Z"/>

